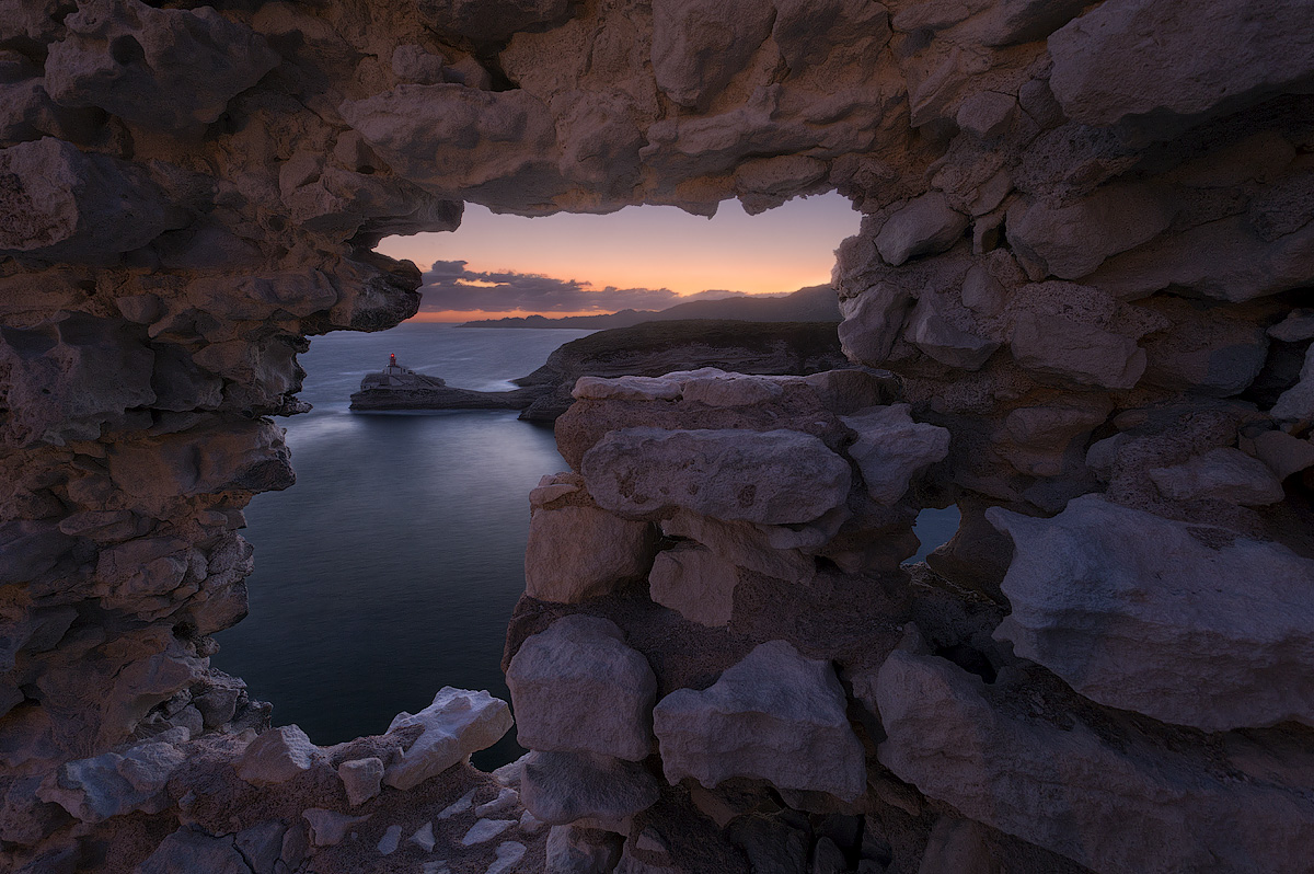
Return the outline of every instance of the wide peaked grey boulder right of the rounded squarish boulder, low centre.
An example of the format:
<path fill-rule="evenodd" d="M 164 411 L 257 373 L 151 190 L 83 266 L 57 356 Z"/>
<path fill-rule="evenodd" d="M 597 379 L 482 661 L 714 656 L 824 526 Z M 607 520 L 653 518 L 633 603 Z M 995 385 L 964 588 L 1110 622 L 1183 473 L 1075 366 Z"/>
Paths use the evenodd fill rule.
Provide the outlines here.
<path fill-rule="evenodd" d="M 703 691 L 677 690 L 653 711 L 662 766 L 712 789 L 732 777 L 853 802 L 866 791 L 862 744 L 830 665 L 783 640 L 759 644 Z"/>

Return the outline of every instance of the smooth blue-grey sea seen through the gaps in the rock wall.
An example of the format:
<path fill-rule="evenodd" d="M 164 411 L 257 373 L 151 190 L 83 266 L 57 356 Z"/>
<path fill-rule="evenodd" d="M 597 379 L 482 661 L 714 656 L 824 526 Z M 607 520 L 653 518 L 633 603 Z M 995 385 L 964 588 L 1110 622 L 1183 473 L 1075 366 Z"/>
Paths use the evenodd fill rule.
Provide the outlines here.
<path fill-rule="evenodd" d="M 310 413 L 280 419 L 297 484 L 256 495 L 250 615 L 215 636 L 212 664 L 273 704 L 273 724 L 321 745 L 388 729 L 443 686 L 510 701 L 506 626 L 524 591 L 528 493 L 565 471 L 551 426 L 503 410 L 352 413 L 360 380 L 397 361 L 449 385 L 515 388 L 593 331 L 461 329 L 406 322 L 313 338 L 300 356 Z M 953 535 L 957 511 L 924 511 L 920 560 Z M 515 732 L 476 754 L 520 754 Z"/>

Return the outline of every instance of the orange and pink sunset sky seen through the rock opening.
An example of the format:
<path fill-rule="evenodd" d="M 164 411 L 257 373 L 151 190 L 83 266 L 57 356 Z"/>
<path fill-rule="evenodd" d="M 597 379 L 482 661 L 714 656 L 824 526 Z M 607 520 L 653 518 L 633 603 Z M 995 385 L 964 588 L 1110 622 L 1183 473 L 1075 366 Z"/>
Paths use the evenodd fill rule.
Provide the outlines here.
<path fill-rule="evenodd" d="M 711 219 L 674 206 L 524 218 L 466 204 L 457 230 L 389 237 L 378 251 L 424 271 L 419 321 L 586 315 L 821 285 L 858 225 L 836 193 L 759 216 L 731 200 Z"/>

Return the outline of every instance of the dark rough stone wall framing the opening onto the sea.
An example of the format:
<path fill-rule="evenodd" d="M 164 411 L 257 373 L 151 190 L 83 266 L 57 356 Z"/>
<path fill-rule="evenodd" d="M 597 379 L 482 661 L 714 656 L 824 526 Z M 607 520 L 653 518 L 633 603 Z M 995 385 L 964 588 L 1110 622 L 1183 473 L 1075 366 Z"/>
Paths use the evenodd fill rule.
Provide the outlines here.
<path fill-rule="evenodd" d="M 0 867 L 1307 866 L 1307 4 L 189 5 L 0 13 Z M 448 690 L 340 748 L 264 733 L 286 779 L 243 779 L 268 707 L 209 635 L 242 509 L 293 482 L 268 417 L 306 338 L 418 306 L 372 246 L 464 201 L 825 191 L 863 213 L 853 368 L 581 381 L 532 497 L 507 662 L 606 619 L 658 710 L 698 704 L 678 743 L 481 775 L 505 720 Z M 805 749 L 716 760 L 708 725 L 819 695 Z M 540 710 L 527 737 L 572 725 Z"/>

